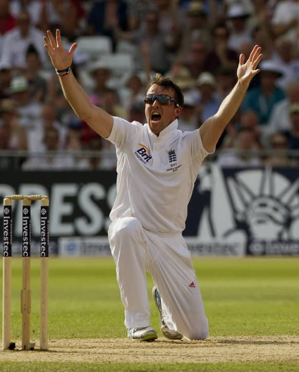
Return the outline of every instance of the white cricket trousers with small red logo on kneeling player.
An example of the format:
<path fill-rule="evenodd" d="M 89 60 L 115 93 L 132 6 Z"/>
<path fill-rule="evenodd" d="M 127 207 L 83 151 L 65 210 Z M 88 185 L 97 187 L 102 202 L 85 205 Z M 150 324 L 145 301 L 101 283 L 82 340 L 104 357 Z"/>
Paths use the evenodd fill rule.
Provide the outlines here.
<path fill-rule="evenodd" d="M 190 252 L 181 234 L 158 235 L 145 230 L 138 219 L 122 217 L 111 223 L 108 236 L 126 328 L 150 324 L 148 271 L 160 292 L 167 327 L 188 340 L 207 338 L 208 320 Z"/>

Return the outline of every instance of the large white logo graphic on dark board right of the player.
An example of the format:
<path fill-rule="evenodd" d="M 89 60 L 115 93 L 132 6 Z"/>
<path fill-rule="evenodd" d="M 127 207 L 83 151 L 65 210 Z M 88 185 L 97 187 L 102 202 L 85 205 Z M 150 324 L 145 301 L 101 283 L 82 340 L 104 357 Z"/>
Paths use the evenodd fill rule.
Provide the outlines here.
<path fill-rule="evenodd" d="M 293 183 L 271 168 L 203 167 L 199 193 L 209 191 L 198 224 L 202 242 L 254 254 L 299 253 L 299 178 Z"/>

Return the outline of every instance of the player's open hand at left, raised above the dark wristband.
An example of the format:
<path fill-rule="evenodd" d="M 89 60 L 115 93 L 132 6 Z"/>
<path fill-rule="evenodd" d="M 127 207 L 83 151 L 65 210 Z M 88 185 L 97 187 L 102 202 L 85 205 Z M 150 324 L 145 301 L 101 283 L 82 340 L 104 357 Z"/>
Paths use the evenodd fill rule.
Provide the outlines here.
<path fill-rule="evenodd" d="M 73 53 L 76 50 L 78 44 L 74 43 L 71 45 L 69 51 L 65 50 L 62 46 L 60 30 L 56 30 L 56 40 L 51 31 L 47 31 L 47 36 L 44 36 L 45 48 L 51 58 L 51 62 L 55 69 L 63 70 L 69 67 L 72 63 Z"/>

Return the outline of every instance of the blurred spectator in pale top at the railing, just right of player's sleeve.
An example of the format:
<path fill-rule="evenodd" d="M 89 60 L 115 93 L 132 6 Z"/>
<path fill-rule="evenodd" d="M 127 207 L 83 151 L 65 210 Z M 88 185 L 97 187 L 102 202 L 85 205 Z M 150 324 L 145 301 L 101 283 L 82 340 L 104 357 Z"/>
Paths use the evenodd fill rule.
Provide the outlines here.
<path fill-rule="evenodd" d="M 221 167 L 258 167 L 262 163 L 255 155 L 258 145 L 251 128 L 241 128 L 236 135 L 234 148 L 220 152 L 217 164 Z"/>

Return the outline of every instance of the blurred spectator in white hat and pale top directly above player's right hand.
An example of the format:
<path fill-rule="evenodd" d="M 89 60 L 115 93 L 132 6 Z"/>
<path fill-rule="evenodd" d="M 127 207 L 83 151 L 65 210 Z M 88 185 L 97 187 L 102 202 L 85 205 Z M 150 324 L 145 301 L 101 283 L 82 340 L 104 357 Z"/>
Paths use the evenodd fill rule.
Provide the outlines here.
<path fill-rule="evenodd" d="M 227 24 L 230 29 L 228 44 L 236 52 L 242 43 L 252 43 L 252 30 L 247 24 L 249 16 L 249 11 L 241 3 L 231 4 L 228 8 Z"/>

